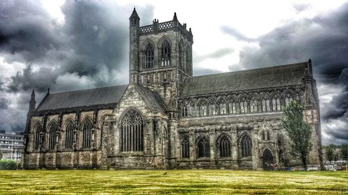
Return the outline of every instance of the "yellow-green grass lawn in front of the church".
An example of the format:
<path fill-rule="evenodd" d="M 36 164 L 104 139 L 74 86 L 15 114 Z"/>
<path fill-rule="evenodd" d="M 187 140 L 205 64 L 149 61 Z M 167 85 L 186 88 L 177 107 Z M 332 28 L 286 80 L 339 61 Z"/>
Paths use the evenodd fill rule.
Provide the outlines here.
<path fill-rule="evenodd" d="M 348 194 L 348 171 L 0 171 L 0 194 Z"/>

